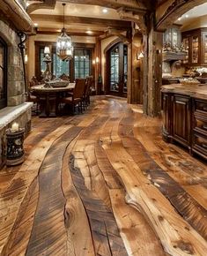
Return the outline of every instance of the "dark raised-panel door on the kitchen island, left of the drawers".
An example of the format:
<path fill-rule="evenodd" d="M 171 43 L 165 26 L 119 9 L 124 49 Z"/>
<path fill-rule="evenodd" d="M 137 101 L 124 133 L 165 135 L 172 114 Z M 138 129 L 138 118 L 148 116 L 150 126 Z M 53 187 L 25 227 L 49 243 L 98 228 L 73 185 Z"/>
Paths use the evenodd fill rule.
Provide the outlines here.
<path fill-rule="evenodd" d="M 174 95 L 173 137 L 183 146 L 189 146 L 190 138 L 190 98 Z"/>

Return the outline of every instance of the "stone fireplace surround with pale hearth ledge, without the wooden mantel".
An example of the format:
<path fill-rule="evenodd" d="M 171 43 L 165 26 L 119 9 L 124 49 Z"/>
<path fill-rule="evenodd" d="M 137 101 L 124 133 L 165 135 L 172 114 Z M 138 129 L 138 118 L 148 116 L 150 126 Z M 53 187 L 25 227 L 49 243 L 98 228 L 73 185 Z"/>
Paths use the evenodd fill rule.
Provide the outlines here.
<path fill-rule="evenodd" d="M 21 3 L 22 2 L 22 3 Z M 20 1 L 24 4 L 25 1 Z M 0 169 L 5 162 L 6 154 L 6 129 L 17 122 L 19 127 L 30 131 L 31 125 L 31 103 L 25 103 L 25 81 L 24 70 L 20 49 L 18 49 L 19 38 L 10 23 L 0 20 L 0 37 L 6 42 L 7 56 L 7 107 L 0 109 Z M 18 111 L 21 109 L 21 111 Z M 23 110 L 22 110 L 23 109 Z M 18 113 L 18 114 L 17 114 Z M 8 121 L 9 120 L 9 121 Z"/>

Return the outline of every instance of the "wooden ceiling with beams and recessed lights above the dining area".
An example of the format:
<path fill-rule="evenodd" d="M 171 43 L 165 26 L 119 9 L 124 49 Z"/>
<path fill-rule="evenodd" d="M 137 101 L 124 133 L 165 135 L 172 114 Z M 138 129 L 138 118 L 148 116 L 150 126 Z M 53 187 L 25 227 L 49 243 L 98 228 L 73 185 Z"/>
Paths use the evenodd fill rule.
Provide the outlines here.
<path fill-rule="evenodd" d="M 97 36 L 106 34 L 108 29 L 126 31 L 130 29 L 131 22 L 121 20 L 117 10 L 145 12 L 152 11 L 156 6 L 164 4 L 167 0 L 38 0 L 32 1 L 27 12 L 38 24 L 38 33 L 56 34 L 63 26 L 63 7 L 65 3 L 69 11 L 65 11 L 65 27 L 70 34 L 85 34 Z M 82 7 L 81 7 L 82 6 Z M 76 8 L 77 7 L 77 8 Z M 82 8 L 82 10 L 81 10 Z M 108 13 L 103 14 L 103 8 Z M 78 10 L 78 11 L 75 11 Z M 92 31 L 91 34 L 86 31 Z"/>

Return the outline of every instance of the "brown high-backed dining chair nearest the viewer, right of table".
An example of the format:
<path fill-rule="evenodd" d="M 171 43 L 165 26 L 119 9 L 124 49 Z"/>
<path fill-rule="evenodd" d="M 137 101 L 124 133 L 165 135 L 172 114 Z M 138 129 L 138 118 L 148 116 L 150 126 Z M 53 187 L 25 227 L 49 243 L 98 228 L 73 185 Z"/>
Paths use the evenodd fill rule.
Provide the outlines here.
<path fill-rule="evenodd" d="M 76 85 L 73 89 L 73 93 L 70 97 L 63 97 L 60 99 L 61 103 L 65 103 L 66 105 L 70 105 L 72 107 L 72 114 L 75 113 L 75 107 L 78 105 L 78 109 L 80 112 L 83 112 L 82 102 L 85 91 L 85 81 L 86 79 L 76 79 Z"/>

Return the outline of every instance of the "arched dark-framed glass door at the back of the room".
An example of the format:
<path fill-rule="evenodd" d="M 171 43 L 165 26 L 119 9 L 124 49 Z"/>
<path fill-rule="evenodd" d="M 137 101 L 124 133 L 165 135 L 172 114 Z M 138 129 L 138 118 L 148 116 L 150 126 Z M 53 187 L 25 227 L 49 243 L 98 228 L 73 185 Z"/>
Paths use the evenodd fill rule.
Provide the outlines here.
<path fill-rule="evenodd" d="M 118 42 L 107 50 L 106 93 L 127 97 L 128 47 Z"/>

